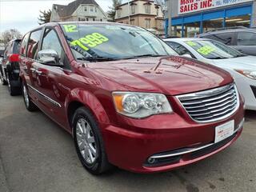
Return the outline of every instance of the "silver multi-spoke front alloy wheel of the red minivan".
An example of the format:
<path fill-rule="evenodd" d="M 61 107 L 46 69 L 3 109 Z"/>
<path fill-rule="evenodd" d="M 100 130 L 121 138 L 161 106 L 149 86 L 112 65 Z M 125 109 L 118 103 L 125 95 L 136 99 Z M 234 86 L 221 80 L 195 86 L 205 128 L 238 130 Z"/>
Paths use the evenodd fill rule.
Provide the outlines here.
<path fill-rule="evenodd" d="M 82 158 L 84 158 L 88 164 L 93 164 L 98 157 L 98 150 L 94 133 L 85 118 L 78 119 L 76 124 L 76 138 Z"/>

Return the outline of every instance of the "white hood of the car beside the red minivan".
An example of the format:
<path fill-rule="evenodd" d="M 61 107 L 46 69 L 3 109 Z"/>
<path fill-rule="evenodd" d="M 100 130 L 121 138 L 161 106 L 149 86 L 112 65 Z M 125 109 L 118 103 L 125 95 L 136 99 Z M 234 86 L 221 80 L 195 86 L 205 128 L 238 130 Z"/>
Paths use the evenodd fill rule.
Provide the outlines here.
<path fill-rule="evenodd" d="M 256 70 L 256 57 L 245 56 L 239 58 L 211 59 L 219 67 L 232 70 Z"/>

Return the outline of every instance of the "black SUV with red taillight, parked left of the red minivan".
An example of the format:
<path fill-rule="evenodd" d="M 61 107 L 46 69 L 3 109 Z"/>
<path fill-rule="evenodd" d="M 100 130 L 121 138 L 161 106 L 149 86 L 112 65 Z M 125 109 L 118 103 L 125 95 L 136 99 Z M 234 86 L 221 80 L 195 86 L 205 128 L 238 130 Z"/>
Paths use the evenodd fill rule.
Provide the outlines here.
<path fill-rule="evenodd" d="M 21 39 L 8 42 L 2 58 L 0 79 L 2 85 L 8 85 L 10 95 L 21 94 L 18 65 L 20 42 Z"/>

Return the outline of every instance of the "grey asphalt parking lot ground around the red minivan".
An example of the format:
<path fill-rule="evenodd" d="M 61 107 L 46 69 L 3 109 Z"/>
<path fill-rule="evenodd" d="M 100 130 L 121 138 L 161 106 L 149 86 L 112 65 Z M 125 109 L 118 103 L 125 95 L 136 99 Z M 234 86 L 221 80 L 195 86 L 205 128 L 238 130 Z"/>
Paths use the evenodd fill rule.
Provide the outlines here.
<path fill-rule="evenodd" d="M 78 161 L 70 134 L 21 96 L 0 86 L 0 191 L 252 191 L 256 189 L 256 113 L 242 137 L 202 162 L 161 174 L 115 169 L 95 177 Z M 118 155 L 118 154 L 117 154 Z"/>

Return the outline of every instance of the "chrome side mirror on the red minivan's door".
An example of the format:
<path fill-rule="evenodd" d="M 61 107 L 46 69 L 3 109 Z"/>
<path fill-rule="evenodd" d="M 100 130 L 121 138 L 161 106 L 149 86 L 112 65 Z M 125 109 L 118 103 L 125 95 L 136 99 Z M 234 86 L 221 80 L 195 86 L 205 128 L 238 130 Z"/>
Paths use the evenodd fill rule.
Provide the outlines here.
<path fill-rule="evenodd" d="M 38 52 L 38 60 L 46 65 L 60 66 L 56 50 L 40 50 Z"/>

